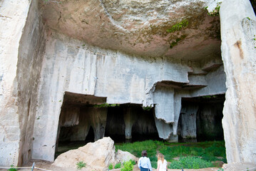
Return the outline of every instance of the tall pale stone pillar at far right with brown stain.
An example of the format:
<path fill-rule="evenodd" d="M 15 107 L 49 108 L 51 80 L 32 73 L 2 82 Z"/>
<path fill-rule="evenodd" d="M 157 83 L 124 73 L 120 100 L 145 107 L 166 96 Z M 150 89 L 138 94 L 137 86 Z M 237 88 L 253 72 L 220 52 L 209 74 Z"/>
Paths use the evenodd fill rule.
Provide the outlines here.
<path fill-rule="evenodd" d="M 222 125 L 227 162 L 256 163 L 255 20 L 249 0 L 222 1 L 221 51 L 227 76 Z"/>

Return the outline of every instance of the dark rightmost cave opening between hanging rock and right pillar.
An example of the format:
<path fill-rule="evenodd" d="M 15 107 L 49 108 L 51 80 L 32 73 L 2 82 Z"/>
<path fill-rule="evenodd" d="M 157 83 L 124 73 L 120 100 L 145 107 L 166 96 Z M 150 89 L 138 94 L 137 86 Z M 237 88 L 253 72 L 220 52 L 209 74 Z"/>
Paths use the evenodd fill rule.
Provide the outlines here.
<path fill-rule="evenodd" d="M 180 142 L 224 140 L 222 110 L 225 95 L 183 98 L 178 135 Z"/>

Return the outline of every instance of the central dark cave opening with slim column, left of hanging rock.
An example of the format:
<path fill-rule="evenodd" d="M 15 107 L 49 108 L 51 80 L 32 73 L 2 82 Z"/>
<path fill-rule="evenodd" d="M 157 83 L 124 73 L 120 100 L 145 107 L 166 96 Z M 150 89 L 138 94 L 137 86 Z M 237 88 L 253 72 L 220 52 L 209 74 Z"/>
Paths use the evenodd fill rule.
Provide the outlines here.
<path fill-rule="evenodd" d="M 105 136 L 115 143 L 159 140 L 154 113 L 155 108 L 130 103 L 108 108 Z"/>

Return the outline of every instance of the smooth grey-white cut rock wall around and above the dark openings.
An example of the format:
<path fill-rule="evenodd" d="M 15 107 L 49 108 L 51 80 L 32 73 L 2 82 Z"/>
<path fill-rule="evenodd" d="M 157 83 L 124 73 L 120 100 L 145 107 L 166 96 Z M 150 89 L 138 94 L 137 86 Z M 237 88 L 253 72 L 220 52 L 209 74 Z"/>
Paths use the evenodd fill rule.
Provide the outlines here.
<path fill-rule="evenodd" d="M 193 76 L 193 79 L 199 77 L 201 82 L 190 83 L 188 72 L 200 71 L 200 65 L 192 65 L 189 61 L 128 56 L 118 51 L 89 46 L 53 31 L 48 31 L 47 40 L 40 78 L 42 84 L 39 86 L 36 104 L 36 118 L 40 119 L 35 121 L 34 126 L 33 158 L 53 161 L 58 118 L 66 91 L 107 97 L 107 103 L 135 103 L 146 107 L 153 104 L 164 106 L 163 101 L 155 103 L 154 100 L 159 99 L 158 94 L 166 94 L 166 90 L 170 89 L 169 94 L 173 97 L 170 104 L 173 104 L 174 110 L 170 108 L 169 111 L 167 108 L 165 113 L 170 114 L 166 115 L 159 114 L 158 111 L 155 113 L 157 119 L 158 116 L 162 119 L 161 124 L 170 129 L 160 128 L 157 123 L 156 125 L 159 135 L 165 132 L 160 138 L 173 139 L 171 136 L 174 135 L 177 142 L 181 97 L 190 96 L 193 86 L 194 89 L 198 85 L 208 86 L 208 81 L 200 75 Z M 221 70 L 220 68 L 208 74 L 214 75 L 213 79 L 222 80 L 220 77 L 223 74 L 215 74 Z M 182 86 L 189 83 L 192 90 L 183 90 Z M 170 88 L 165 88 L 160 93 L 158 88 L 155 89 L 158 84 Z M 215 87 L 214 83 L 211 87 Z M 223 92 L 224 83 L 221 88 L 208 88 L 208 93 Z"/>

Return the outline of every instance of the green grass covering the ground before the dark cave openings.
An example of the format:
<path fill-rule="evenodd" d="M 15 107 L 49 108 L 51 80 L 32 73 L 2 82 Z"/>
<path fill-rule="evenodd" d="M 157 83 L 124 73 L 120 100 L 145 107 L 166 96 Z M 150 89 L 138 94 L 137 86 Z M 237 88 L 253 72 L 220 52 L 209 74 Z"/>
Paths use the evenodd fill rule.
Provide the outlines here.
<path fill-rule="evenodd" d="M 165 155 L 165 160 L 168 162 L 172 162 L 172 164 L 175 163 L 175 165 L 180 165 L 178 162 L 188 162 L 190 165 L 193 163 L 195 169 L 198 167 L 206 167 L 208 166 L 209 162 L 211 163 L 216 160 L 222 160 L 223 162 L 227 163 L 224 141 L 169 143 L 146 140 L 143 142 L 123 143 L 122 145 L 116 145 L 116 150 L 128 151 L 136 157 L 140 157 L 141 152 L 143 150 L 147 150 L 148 157 L 150 158 L 153 168 L 157 167 L 157 150 Z M 180 159 L 182 160 L 173 160 L 174 157 L 181 157 Z M 221 157 L 222 159 L 218 159 L 217 157 Z M 212 166 L 213 165 L 211 165 L 211 167 Z"/>

